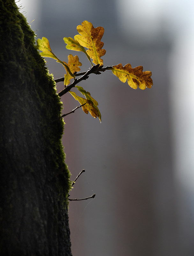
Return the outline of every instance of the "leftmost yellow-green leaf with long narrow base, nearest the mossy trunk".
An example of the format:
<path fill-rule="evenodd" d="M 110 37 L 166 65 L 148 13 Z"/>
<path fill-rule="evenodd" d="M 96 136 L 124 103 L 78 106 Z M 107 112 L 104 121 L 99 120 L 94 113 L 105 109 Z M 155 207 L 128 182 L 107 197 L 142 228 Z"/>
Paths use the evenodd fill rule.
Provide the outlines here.
<path fill-rule="evenodd" d="M 42 37 L 42 39 L 40 39 L 40 38 L 37 39 L 36 47 L 38 50 L 42 51 L 42 52 L 40 52 L 40 55 L 42 57 L 48 57 L 48 58 L 55 59 L 57 62 L 61 63 L 65 67 L 65 69 L 70 73 L 70 75 L 72 77 L 75 78 L 75 76 L 71 73 L 69 67 L 67 66 L 67 63 L 59 60 L 59 58 L 57 58 L 56 55 L 54 54 L 54 52 L 51 50 L 49 41 L 46 37 Z"/>

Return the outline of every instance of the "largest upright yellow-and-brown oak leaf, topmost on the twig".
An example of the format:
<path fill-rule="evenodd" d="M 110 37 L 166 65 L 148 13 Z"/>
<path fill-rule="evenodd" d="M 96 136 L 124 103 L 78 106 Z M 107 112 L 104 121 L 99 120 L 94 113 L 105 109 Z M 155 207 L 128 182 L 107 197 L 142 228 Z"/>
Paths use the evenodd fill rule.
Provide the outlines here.
<path fill-rule="evenodd" d="M 81 23 L 82 25 L 77 26 L 78 33 L 80 35 L 74 36 L 74 39 L 78 43 L 88 50 L 87 54 L 93 59 L 94 64 L 103 65 L 101 57 L 106 53 L 106 50 L 102 49 L 104 43 L 101 42 L 101 38 L 104 34 L 104 28 L 94 28 L 91 22 L 87 20 Z"/>

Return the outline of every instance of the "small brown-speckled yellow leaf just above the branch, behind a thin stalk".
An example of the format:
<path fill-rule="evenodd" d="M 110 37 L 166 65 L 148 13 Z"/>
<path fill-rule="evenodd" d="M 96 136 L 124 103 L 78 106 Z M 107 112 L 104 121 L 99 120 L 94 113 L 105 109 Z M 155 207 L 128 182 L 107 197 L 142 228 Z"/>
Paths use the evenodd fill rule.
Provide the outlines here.
<path fill-rule="evenodd" d="M 79 67 L 82 64 L 81 64 L 81 62 L 79 62 L 79 58 L 77 55 L 73 56 L 72 54 L 69 54 L 68 55 L 68 63 L 66 63 L 66 65 L 69 67 L 69 69 L 71 70 L 71 73 L 73 74 L 74 72 L 80 71 Z M 67 74 L 64 75 L 64 85 L 68 85 L 70 83 L 71 78 L 73 78 L 73 76 L 70 75 L 70 73 L 68 72 L 66 67 L 65 67 L 65 69 L 66 69 Z"/>

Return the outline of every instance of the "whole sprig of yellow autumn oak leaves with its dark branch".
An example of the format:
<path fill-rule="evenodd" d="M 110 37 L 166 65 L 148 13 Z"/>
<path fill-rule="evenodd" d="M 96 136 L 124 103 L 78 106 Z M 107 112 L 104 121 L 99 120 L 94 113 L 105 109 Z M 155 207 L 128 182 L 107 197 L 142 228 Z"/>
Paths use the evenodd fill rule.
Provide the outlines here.
<path fill-rule="evenodd" d="M 71 37 L 64 37 L 63 40 L 67 44 L 67 49 L 84 52 L 86 54 L 87 59 L 92 65 L 92 68 L 90 68 L 87 72 L 77 73 L 80 71 L 79 67 L 82 65 L 77 55 L 73 56 L 69 54 L 68 63 L 66 63 L 65 61 L 58 59 L 58 57 L 54 54 L 46 37 L 42 37 L 42 39 L 37 40 L 37 48 L 38 50 L 42 51 L 40 53 L 41 56 L 55 59 L 57 62 L 61 63 L 66 70 L 66 74 L 64 75 L 63 79 L 64 90 L 59 92 L 59 96 L 62 96 L 66 92 L 70 92 L 71 95 L 78 100 L 81 105 L 83 105 L 82 109 L 86 114 L 89 112 L 94 118 L 98 117 L 101 121 L 101 113 L 98 109 L 98 102 L 91 97 L 89 92 L 86 92 L 81 86 L 76 85 L 80 81 L 86 80 L 89 74 L 101 74 L 101 72 L 104 72 L 105 70 L 112 70 L 113 74 L 117 76 L 121 82 L 125 83 L 126 80 L 128 80 L 127 82 L 129 86 L 131 86 L 133 89 L 137 89 L 139 87 L 140 89 L 145 90 L 146 87 L 152 87 L 152 73 L 150 71 L 143 72 L 142 66 L 132 68 L 131 64 L 126 64 L 123 67 L 123 65 L 120 63 L 116 66 L 108 66 L 103 68 L 103 60 L 101 57 L 105 55 L 106 50 L 102 49 L 104 43 L 101 42 L 101 38 L 104 34 L 104 28 L 94 28 L 91 22 L 85 20 L 82 22 L 82 25 L 77 26 L 77 30 L 79 35 L 74 36 L 74 39 Z M 88 50 L 86 50 L 84 47 Z M 92 62 L 95 64 L 95 66 L 93 66 Z M 76 76 L 81 77 L 76 79 Z M 70 84 L 71 79 L 74 79 L 72 84 Z M 73 87 L 76 87 L 78 91 L 85 96 L 85 98 L 76 95 L 75 92 L 71 92 L 70 90 Z"/>

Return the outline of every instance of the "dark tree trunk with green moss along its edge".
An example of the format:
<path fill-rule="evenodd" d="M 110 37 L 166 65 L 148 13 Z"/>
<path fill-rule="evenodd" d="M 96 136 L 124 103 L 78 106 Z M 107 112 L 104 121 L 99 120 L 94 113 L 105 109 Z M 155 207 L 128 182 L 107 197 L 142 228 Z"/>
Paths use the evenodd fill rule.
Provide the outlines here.
<path fill-rule="evenodd" d="M 14 0 L 0 0 L 0 255 L 71 255 L 55 83 Z"/>

